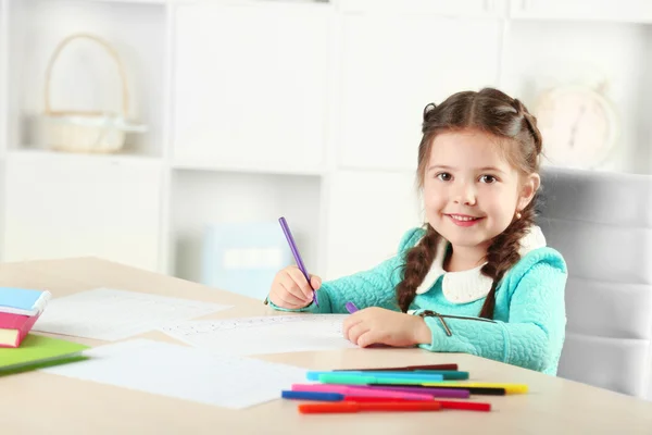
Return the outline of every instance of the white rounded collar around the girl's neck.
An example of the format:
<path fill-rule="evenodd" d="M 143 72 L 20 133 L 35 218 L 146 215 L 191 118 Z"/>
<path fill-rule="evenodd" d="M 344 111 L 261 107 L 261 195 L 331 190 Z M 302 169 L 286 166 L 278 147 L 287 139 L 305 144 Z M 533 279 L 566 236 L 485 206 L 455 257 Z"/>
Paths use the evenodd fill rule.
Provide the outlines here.
<path fill-rule="evenodd" d="M 430 270 L 426 274 L 423 283 L 416 289 L 417 295 L 423 295 L 432 288 L 439 276 L 443 275 L 441 288 L 443 296 L 453 303 L 467 303 L 484 298 L 491 290 L 493 281 L 481 274 L 480 269 L 486 264 L 480 264 L 475 269 L 461 272 L 447 272 L 443 270 L 443 259 L 449 241 L 440 238 L 437 245 L 437 254 Z M 546 246 L 546 237 L 541 228 L 532 225 L 529 232 L 521 239 L 521 257 L 527 252 Z"/>

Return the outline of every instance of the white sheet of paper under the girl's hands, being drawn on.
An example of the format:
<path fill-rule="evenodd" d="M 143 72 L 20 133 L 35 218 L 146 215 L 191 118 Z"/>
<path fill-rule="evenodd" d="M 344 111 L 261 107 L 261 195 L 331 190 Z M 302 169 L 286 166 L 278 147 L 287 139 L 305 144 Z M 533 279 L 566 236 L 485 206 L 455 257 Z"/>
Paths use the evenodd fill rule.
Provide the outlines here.
<path fill-rule="evenodd" d="M 177 322 L 165 334 L 221 355 L 263 355 L 356 348 L 342 336 L 348 314 L 301 314 Z"/>

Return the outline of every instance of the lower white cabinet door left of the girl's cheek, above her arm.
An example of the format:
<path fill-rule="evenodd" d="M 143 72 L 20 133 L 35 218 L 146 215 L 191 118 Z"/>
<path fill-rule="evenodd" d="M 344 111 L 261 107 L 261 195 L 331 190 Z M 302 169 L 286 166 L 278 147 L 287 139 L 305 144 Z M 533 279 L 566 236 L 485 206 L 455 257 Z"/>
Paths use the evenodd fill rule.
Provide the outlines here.
<path fill-rule="evenodd" d="M 326 279 L 394 256 L 403 234 L 423 225 L 412 173 L 338 172 L 327 183 Z"/>

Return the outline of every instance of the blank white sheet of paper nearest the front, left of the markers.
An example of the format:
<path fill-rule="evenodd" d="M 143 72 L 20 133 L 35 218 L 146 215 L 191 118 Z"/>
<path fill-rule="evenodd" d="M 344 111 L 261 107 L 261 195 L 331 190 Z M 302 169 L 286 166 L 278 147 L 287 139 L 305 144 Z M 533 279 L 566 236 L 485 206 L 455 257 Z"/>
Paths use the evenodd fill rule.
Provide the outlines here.
<path fill-rule="evenodd" d="M 306 380 L 305 369 L 142 338 L 84 355 L 90 359 L 41 370 L 230 409 L 280 398 L 281 390 Z"/>

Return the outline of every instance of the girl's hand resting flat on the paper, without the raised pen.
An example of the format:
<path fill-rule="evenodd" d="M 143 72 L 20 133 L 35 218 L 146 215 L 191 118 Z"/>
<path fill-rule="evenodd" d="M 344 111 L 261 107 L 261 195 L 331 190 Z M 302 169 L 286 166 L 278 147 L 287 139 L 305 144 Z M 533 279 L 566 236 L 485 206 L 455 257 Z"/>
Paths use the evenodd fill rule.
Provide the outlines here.
<path fill-rule="evenodd" d="M 423 318 L 377 307 L 348 316 L 342 332 L 344 338 L 360 347 L 375 344 L 409 347 L 431 340 L 430 330 Z"/>

